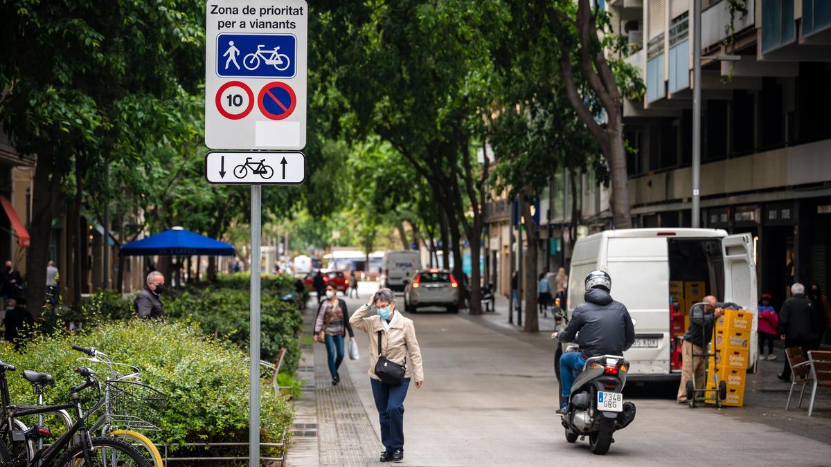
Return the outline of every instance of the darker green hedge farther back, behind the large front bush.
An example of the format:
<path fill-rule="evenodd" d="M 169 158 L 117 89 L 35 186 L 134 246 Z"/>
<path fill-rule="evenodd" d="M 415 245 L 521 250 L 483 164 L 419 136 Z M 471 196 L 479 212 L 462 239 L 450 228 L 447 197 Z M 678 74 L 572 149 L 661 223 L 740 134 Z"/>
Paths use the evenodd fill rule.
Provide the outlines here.
<path fill-rule="evenodd" d="M 199 322 L 209 335 L 224 337 L 242 349 L 249 342 L 249 295 L 234 289 L 194 289 L 182 292 L 165 304 L 165 313 L 173 320 Z M 260 353 L 263 360 L 276 360 L 281 347 L 286 348 L 282 371 L 297 371 L 300 350 L 297 335 L 302 314 L 293 303 L 282 302 L 278 295 L 263 293 L 260 303 Z"/>

